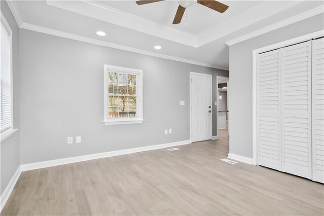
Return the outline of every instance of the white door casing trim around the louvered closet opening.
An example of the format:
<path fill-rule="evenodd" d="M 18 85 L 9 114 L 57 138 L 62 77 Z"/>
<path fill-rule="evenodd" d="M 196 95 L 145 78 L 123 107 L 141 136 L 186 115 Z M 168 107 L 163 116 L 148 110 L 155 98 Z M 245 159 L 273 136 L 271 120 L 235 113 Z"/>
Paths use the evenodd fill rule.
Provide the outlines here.
<path fill-rule="evenodd" d="M 257 165 L 257 54 L 324 36 L 324 29 L 252 51 L 252 159 Z"/>

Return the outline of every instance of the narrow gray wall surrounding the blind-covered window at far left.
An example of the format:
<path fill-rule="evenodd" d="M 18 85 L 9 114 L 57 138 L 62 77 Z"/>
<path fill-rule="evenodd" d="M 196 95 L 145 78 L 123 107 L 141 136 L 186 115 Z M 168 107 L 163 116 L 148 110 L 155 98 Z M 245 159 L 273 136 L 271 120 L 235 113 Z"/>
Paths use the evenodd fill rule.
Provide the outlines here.
<path fill-rule="evenodd" d="M 14 104 L 14 128 L 19 127 L 19 29 L 18 25 L 7 5 L 1 1 L 1 12 L 4 14 L 13 34 L 13 104 Z M 20 165 L 19 161 L 19 130 L 9 138 L 1 142 L 1 193 L 7 187 L 13 174 Z"/>

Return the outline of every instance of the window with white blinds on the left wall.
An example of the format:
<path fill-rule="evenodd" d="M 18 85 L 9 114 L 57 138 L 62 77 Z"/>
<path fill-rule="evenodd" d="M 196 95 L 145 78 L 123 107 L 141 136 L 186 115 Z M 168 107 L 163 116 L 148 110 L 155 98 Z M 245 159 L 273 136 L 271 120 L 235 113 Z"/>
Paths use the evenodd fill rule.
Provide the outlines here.
<path fill-rule="evenodd" d="M 3 140 L 13 130 L 12 31 L 1 14 L 0 134 Z"/>

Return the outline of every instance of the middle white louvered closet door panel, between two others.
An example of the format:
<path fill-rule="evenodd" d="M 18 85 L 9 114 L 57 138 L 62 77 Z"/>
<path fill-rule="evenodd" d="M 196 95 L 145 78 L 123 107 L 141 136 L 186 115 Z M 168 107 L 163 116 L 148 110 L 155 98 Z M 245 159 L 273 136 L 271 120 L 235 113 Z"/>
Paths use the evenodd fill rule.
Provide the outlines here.
<path fill-rule="evenodd" d="M 281 169 L 312 178 L 311 41 L 281 48 Z"/>

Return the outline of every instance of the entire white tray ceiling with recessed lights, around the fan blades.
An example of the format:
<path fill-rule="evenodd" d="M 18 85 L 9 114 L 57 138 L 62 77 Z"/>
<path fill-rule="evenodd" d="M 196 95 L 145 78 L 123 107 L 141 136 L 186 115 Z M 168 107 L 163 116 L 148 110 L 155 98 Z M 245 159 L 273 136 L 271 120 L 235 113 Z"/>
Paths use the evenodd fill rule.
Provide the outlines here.
<path fill-rule="evenodd" d="M 142 6 L 135 1 L 15 1 L 9 6 L 22 28 L 221 69 L 229 63 L 225 42 L 323 6 L 323 1 L 221 2 L 229 6 L 225 13 L 195 3 L 178 25 L 172 25 L 175 1 Z M 98 30 L 107 36 L 99 37 Z M 162 49 L 154 50 L 155 45 Z"/>

